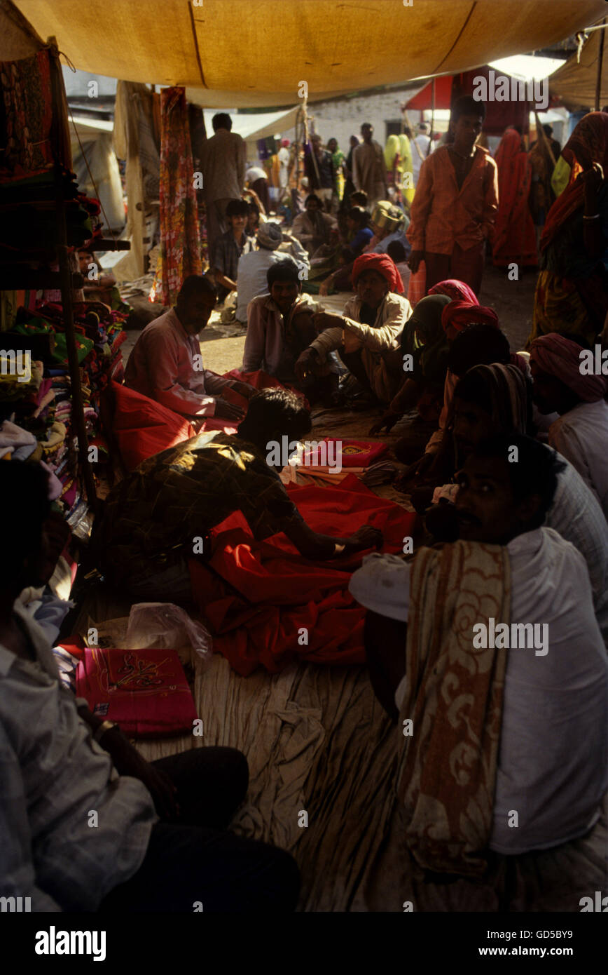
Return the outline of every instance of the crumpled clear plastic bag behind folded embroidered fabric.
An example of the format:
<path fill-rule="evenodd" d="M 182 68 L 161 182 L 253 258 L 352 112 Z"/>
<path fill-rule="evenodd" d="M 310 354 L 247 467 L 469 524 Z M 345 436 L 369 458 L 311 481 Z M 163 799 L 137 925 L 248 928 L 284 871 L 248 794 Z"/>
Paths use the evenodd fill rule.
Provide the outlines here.
<path fill-rule="evenodd" d="M 124 649 L 177 650 L 182 663 L 190 663 L 192 650 L 210 663 L 213 641 L 209 630 L 173 603 L 135 603 L 131 607 Z"/>

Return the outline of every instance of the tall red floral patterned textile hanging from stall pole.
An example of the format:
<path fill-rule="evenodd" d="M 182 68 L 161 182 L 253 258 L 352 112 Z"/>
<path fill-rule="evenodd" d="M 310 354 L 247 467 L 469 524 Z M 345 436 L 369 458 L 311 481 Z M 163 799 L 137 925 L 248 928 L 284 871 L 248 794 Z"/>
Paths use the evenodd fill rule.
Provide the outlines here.
<path fill-rule="evenodd" d="M 155 296 L 171 305 L 189 274 L 201 274 L 201 237 L 184 88 L 161 93 L 161 250 Z"/>

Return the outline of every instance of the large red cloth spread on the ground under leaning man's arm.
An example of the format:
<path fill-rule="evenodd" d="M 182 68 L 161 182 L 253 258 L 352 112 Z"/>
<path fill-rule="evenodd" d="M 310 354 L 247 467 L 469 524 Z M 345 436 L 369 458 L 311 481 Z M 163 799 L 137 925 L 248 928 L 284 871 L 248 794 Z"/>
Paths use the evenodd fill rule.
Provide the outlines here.
<path fill-rule="evenodd" d="M 414 515 L 377 497 L 354 475 L 338 487 L 289 487 L 307 524 L 346 537 L 361 525 L 381 528 L 384 552 L 400 553 Z M 284 534 L 252 537 L 236 512 L 212 531 L 209 562 L 191 560 L 196 604 L 213 634 L 213 650 L 247 676 L 258 665 L 278 673 L 292 660 L 324 664 L 364 662 L 364 609 L 348 591 L 358 553 L 315 563 L 304 559 Z"/>

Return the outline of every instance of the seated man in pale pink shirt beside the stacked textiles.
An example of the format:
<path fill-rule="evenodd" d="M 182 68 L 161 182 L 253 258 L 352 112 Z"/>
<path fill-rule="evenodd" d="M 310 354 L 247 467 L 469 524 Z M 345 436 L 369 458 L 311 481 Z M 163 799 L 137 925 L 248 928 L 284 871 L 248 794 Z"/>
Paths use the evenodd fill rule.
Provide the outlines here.
<path fill-rule="evenodd" d="M 247 399 L 255 392 L 246 382 L 203 367 L 198 336 L 209 322 L 216 297 L 209 278 L 194 274 L 186 278 L 175 307 L 139 335 L 125 370 L 131 389 L 190 420 L 209 416 L 240 420 L 243 409 L 223 399 L 222 391 L 234 389 Z"/>

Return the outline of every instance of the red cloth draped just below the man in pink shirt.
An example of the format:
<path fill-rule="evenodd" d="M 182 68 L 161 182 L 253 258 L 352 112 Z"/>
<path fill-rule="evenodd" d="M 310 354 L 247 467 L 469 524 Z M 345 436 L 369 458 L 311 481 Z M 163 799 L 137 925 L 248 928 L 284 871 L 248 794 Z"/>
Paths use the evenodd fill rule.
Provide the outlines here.
<path fill-rule="evenodd" d="M 154 453 L 160 453 L 194 437 L 194 429 L 184 416 L 154 400 L 135 393 L 129 386 L 112 382 L 114 392 L 114 434 L 128 471 Z"/>

